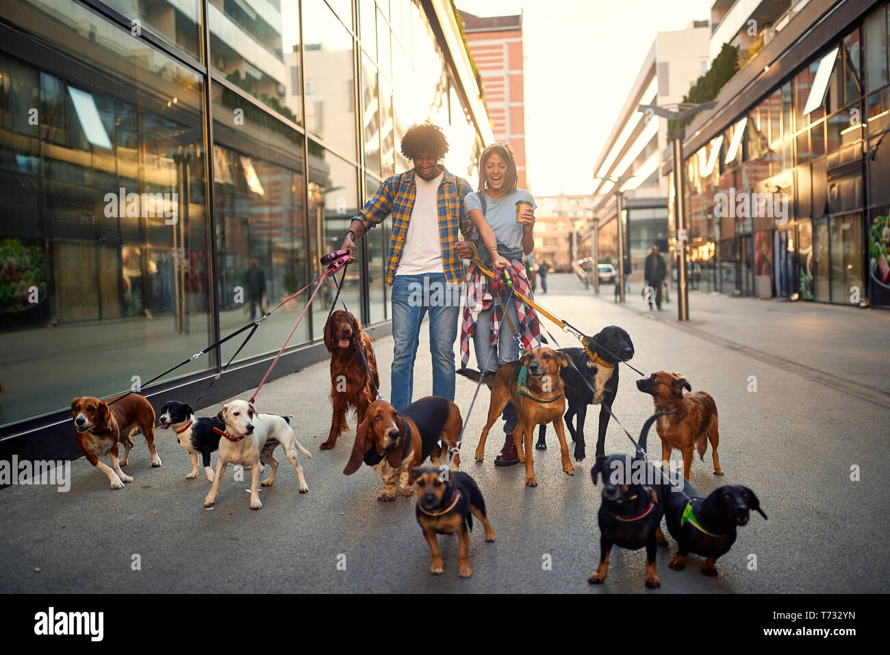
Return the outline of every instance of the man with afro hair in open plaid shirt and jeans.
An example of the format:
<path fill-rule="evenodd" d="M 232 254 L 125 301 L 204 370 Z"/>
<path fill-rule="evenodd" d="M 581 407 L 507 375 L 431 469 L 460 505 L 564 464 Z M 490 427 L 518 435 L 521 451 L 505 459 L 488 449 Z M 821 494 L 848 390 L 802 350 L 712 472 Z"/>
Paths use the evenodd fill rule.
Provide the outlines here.
<path fill-rule="evenodd" d="M 343 249 L 352 254 L 356 240 L 392 214 L 386 284 L 392 287 L 395 340 L 390 399 L 398 412 L 411 404 L 420 323 L 427 312 L 433 396 L 454 400 L 454 342 L 464 280 L 464 263 L 456 246 L 458 232 L 466 240 L 473 232 L 464 209 L 464 197 L 473 189 L 439 163 L 448 152 L 441 127 L 428 122 L 412 125 L 401 140 L 401 152 L 414 168 L 384 180 L 352 218 L 343 242 Z"/>

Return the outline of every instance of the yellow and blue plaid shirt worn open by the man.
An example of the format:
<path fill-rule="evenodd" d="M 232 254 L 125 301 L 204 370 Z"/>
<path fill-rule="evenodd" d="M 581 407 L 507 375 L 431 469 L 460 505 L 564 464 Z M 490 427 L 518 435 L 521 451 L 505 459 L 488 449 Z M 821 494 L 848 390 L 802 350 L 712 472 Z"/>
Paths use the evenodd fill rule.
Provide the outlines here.
<path fill-rule="evenodd" d="M 473 222 L 464 207 L 464 197 L 473 189 L 465 179 L 451 175 L 444 167 L 442 170 L 445 171 L 445 175 L 442 176 L 438 191 L 442 270 L 445 272 L 446 280 L 457 285 L 464 281 L 464 262 L 454 247 L 460 241 L 458 228 L 467 240 L 473 233 Z M 374 197 L 366 202 L 354 217 L 361 221 L 365 232 L 368 233 L 374 225 L 379 225 L 392 214 L 392 239 L 386 264 L 387 286 L 392 286 L 392 278 L 395 277 L 395 271 L 399 267 L 416 198 L 417 184 L 414 181 L 414 168 L 411 168 L 405 173 L 387 177 Z"/>

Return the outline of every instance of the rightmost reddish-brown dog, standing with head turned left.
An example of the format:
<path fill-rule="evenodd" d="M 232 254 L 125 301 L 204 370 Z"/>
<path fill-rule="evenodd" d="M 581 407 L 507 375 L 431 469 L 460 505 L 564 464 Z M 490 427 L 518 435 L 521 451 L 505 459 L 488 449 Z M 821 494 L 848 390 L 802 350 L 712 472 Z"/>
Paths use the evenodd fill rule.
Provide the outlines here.
<path fill-rule="evenodd" d="M 711 442 L 714 475 L 723 475 L 717 445 L 717 406 L 714 398 L 704 391 L 692 391 L 692 385 L 680 373 L 656 371 L 648 378 L 636 381 L 636 388 L 649 394 L 655 401 L 655 411 L 663 412 L 655 423 L 661 439 L 661 460 L 670 461 L 674 448 L 683 453 L 683 477 L 689 479 L 692 470 L 692 446 L 696 446 L 702 460 Z M 683 389 L 691 393 L 683 393 Z"/>

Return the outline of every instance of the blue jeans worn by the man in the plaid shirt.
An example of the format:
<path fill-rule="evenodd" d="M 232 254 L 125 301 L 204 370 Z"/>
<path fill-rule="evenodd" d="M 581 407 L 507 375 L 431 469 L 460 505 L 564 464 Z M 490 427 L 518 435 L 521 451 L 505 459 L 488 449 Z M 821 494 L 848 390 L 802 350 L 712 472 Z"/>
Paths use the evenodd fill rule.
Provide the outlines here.
<path fill-rule="evenodd" d="M 401 412 L 414 393 L 414 358 L 420 323 L 430 315 L 433 396 L 454 400 L 454 342 L 460 292 L 448 290 L 444 273 L 396 275 L 392 280 L 392 406 Z"/>

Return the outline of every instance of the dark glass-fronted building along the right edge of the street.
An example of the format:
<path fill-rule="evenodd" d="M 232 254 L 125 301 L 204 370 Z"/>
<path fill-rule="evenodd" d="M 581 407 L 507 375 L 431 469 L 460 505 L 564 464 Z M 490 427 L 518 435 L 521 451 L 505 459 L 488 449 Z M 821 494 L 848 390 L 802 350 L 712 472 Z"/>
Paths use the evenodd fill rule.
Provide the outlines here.
<path fill-rule="evenodd" d="M 750 5 L 712 49 L 748 17 L 764 37 L 686 127 L 688 256 L 712 291 L 888 307 L 886 3 Z"/>

